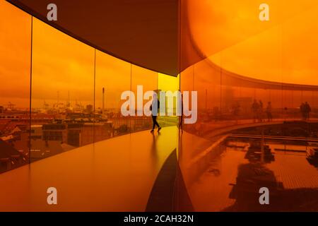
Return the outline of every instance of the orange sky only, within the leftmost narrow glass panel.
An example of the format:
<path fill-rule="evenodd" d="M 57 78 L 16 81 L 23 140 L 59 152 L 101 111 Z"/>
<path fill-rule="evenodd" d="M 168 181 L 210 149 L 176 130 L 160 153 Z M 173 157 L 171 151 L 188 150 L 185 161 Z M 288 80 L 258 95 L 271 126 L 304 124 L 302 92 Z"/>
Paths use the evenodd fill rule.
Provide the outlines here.
<path fill-rule="evenodd" d="M 31 16 L 0 1 L 0 106 L 30 103 Z"/>

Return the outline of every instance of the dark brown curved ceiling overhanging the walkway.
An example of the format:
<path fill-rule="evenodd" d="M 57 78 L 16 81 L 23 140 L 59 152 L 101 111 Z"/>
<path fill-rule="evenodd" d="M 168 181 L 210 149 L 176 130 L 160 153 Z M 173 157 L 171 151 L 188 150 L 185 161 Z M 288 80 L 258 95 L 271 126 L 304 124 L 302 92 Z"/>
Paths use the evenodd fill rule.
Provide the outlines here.
<path fill-rule="evenodd" d="M 102 52 L 153 71 L 179 73 L 178 0 L 54 0 L 52 22 L 50 0 L 7 1 Z"/>

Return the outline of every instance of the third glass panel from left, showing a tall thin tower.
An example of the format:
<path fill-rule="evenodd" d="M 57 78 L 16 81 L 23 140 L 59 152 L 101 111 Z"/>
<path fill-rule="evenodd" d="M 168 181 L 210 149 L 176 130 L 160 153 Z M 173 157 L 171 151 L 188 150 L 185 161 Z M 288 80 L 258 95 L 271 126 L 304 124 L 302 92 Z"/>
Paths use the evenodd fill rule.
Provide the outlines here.
<path fill-rule="evenodd" d="M 130 118 L 120 112 L 124 91 L 130 90 L 131 64 L 96 51 L 95 142 L 130 131 Z"/>

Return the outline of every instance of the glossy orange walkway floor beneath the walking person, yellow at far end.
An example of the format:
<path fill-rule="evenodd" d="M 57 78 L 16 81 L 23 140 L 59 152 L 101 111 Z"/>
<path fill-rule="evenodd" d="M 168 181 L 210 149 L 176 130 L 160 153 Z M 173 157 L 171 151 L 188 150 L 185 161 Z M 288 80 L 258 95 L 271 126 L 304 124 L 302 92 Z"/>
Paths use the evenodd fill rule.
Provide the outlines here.
<path fill-rule="evenodd" d="M 132 133 L 0 174 L 0 211 L 144 211 L 177 136 L 175 126 Z"/>

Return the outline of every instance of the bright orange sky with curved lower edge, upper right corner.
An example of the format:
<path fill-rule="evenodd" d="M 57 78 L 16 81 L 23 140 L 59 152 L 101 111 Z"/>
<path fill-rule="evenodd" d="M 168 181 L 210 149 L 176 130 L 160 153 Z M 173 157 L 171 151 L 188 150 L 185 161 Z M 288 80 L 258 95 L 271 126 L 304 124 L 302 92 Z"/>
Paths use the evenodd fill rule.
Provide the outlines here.
<path fill-rule="evenodd" d="M 317 85 L 316 1 L 187 1 L 194 42 L 211 61 L 243 76 Z"/>

